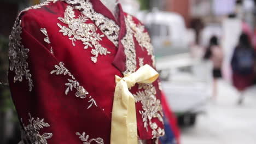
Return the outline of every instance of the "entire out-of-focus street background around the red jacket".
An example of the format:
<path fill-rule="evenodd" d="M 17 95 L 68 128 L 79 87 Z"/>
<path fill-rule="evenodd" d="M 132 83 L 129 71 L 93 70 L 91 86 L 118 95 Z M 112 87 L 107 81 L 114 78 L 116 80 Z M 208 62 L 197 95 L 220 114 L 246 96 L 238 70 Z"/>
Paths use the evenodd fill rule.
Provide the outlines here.
<path fill-rule="evenodd" d="M 7 85 L 8 36 L 19 11 L 40 2 L 0 1 L 1 144 L 20 140 Z M 256 1 L 119 2 L 152 38 L 171 126 L 179 126 L 180 136 L 162 143 L 256 143 Z"/>

